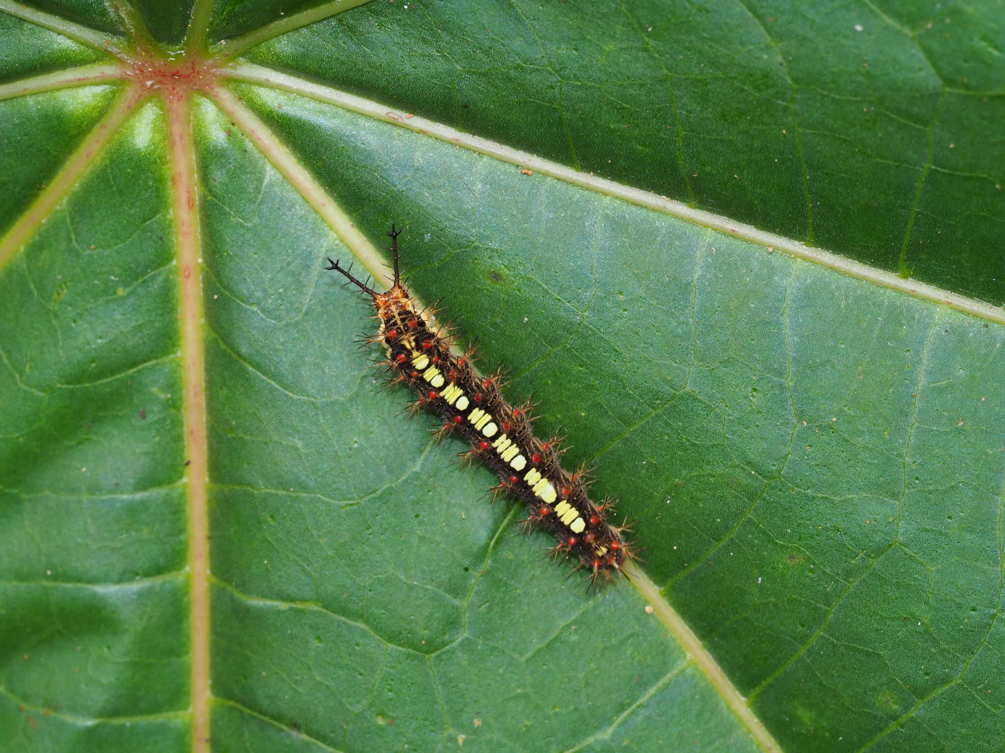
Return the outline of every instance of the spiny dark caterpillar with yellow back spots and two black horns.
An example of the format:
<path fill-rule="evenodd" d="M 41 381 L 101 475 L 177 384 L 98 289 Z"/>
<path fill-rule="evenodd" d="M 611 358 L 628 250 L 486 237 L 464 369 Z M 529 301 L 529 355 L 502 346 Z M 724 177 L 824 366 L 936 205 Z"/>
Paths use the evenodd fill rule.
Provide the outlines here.
<path fill-rule="evenodd" d="M 627 528 L 606 520 L 610 500 L 594 504 L 586 494 L 583 471 L 563 470 L 555 440 L 542 442 L 534 436 L 530 405 L 511 406 L 499 393 L 499 372 L 477 374 L 471 366 L 472 350 L 455 355 L 450 351 L 455 339 L 450 327 L 431 323 L 435 310 L 416 309 L 401 285 L 400 233 L 391 225 L 391 247 L 386 250 L 394 256 L 394 285 L 386 293 L 372 290 L 338 261 L 329 259 L 331 266 L 326 267 L 344 274 L 372 298 L 379 329 L 362 341 L 383 345 L 387 357 L 376 365 L 392 374 L 390 384 L 412 388 L 418 396 L 413 410 L 429 408 L 442 417 L 438 437 L 457 433 L 470 444 L 461 457 L 477 458 L 498 475 L 499 484 L 490 489 L 493 498 L 509 492 L 522 500 L 528 511 L 525 526 L 536 523 L 550 531 L 559 541 L 552 549 L 555 555 L 577 557 L 576 569 L 586 568 L 593 582 L 601 574 L 609 578 L 611 572 L 620 573 L 633 554 L 622 537 Z"/>

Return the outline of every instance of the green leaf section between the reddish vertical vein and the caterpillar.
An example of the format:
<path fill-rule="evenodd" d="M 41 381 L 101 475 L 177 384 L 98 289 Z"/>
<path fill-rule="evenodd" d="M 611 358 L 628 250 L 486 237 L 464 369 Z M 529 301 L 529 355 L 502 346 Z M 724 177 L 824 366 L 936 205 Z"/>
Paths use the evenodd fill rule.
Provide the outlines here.
<path fill-rule="evenodd" d="M 397 416 L 352 342 L 365 301 L 322 269 L 344 249 L 219 113 L 199 115 L 221 724 L 264 717 L 336 749 L 566 749 L 624 714 L 610 739 L 638 750 L 684 730 L 753 750 L 638 594 L 563 580 L 547 541 L 479 500 L 487 472 L 423 447 L 427 423 Z M 676 694 L 691 705 L 668 714 Z"/>

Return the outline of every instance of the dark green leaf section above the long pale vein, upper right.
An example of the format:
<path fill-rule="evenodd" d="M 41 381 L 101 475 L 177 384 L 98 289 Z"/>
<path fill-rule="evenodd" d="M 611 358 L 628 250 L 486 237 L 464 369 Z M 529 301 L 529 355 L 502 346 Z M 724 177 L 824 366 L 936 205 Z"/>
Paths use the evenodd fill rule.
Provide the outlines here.
<path fill-rule="evenodd" d="M 999 305 L 1000 8 L 885 5 L 371 3 L 247 59 Z"/>

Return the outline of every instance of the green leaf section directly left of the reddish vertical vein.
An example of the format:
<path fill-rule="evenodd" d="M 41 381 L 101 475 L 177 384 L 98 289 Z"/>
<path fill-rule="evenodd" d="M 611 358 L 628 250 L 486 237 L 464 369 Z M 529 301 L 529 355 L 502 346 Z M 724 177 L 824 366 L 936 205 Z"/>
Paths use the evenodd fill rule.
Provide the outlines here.
<path fill-rule="evenodd" d="M 0 277 L 0 729 L 15 750 L 188 737 L 164 136 L 151 102 Z"/>

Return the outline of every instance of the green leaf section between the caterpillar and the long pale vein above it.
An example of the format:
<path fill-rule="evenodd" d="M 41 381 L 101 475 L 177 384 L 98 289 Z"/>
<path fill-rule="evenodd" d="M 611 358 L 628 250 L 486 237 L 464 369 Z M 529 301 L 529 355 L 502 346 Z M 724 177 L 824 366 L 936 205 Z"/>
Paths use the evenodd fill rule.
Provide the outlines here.
<path fill-rule="evenodd" d="M 783 746 L 815 730 L 814 749 L 854 750 L 916 706 L 966 724 L 948 699 L 982 686 L 968 673 L 1002 593 L 999 327 L 238 88 L 363 224 L 408 228 L 414 289 L 449 300 L 515 394 L 533 388 L 544 433 L 596 465 L 646 570 Z"/>

